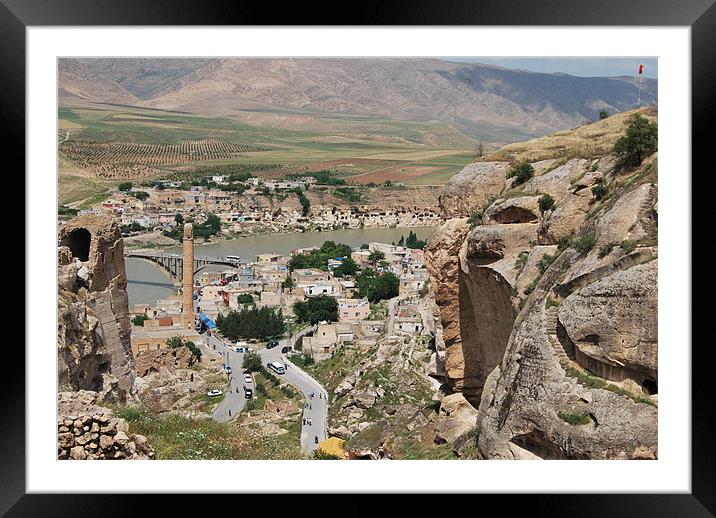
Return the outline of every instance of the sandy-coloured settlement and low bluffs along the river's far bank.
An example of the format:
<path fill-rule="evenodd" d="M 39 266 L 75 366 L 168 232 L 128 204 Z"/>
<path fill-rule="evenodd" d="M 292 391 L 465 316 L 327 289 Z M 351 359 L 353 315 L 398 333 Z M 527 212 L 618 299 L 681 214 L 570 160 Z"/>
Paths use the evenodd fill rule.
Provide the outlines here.
<path fill-rule="evenodd" d="M 204 223 L 215 217 L 216 232 L 205 235 L 207 239 L 217 234 L 434 226 L 439 221 L 437 197 L 429 189 L 345 186 L 333 173 L 271 180 L 209 170 L 193 180 L 124 182 L 103 198 L 90 207 L 61 207 L 60 215 L 111 216 L 124 237 L 176 237 L 184 220 Z"/>

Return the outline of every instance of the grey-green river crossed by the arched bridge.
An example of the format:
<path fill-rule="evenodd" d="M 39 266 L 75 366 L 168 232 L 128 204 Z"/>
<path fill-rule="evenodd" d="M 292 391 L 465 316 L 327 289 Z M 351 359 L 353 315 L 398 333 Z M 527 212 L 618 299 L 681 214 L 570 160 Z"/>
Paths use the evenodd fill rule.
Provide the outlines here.
<path fill-rule="evenodd" d="M 400 236 L 408 237 L 410 231 L 419 239 L 426 239 L 435 230 L 434 227 L 414 228 L 363 228 L 356 230 L 330 230 L 325 232 L 303 232 L 294 234 L 270 234 L 248 236 L 209 244 L 196 244 L 195 256 L 225 257 L 238 255 L 241 261 L 251 261 L 257 254 L 275 252 L 289 255 L 291 250 L 321 245 L 324 241 L 335 241 L 349 246 L 363 243 L 398 242 Z M 167 252 L 181 254 L 181 246 L 168 248 Z M 125 259 L 127 268 L 127 293 L 129 307 L 134 304 L 156 304 L 157 300 L 172 295 L 174 288 L 169 275 L 158 266 L 142 259 Z M 224 266 L 208 267 L 206 270 L 225 270 Z"/>

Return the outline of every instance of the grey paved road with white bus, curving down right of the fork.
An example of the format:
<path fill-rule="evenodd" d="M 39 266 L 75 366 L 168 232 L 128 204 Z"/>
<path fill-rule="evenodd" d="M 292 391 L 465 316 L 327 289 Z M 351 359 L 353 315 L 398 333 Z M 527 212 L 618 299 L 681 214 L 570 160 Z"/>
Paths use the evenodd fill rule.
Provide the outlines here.
<path fill-rule="evenodd" d="M 303 394 L 305 406 L 301 417 L 301 449 L 308 453 L 312 453 L 317 449 L 318 444 L 316 438 L 318 438 L 319 442 L 328 438 L 326 430 L 328 420 L 328 396 L 323 386 L 306 372 L 291 363 L 285 355 L 281 354 L 281 349 L 287 345 L 293 346 L 299 336 L 303 336 L 312 330 L 312 328 L 306 329 L 291 337 L 291 339 L 284 338 L 279 342 L 277 347 L 272 349 L 261 349 L 258 351 L 264 365 L 270 361 L 279 361 L 286 365 L 286 373 L 277 376 L 285 379 L 288 383 L 298 388 Z"/>

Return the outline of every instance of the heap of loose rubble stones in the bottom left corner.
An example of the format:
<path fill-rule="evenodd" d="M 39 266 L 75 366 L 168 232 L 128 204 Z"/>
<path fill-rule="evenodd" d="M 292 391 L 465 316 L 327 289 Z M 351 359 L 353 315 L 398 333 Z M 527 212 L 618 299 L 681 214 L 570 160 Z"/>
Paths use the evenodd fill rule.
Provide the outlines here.
<path fill-rule="evenodd" d="M 61 392 L 57 401 L 57 458 L 71 460 L 152 459 L 143 435 L 129 432 L 124 419 L 99 406 L 96 392 Z"/>

